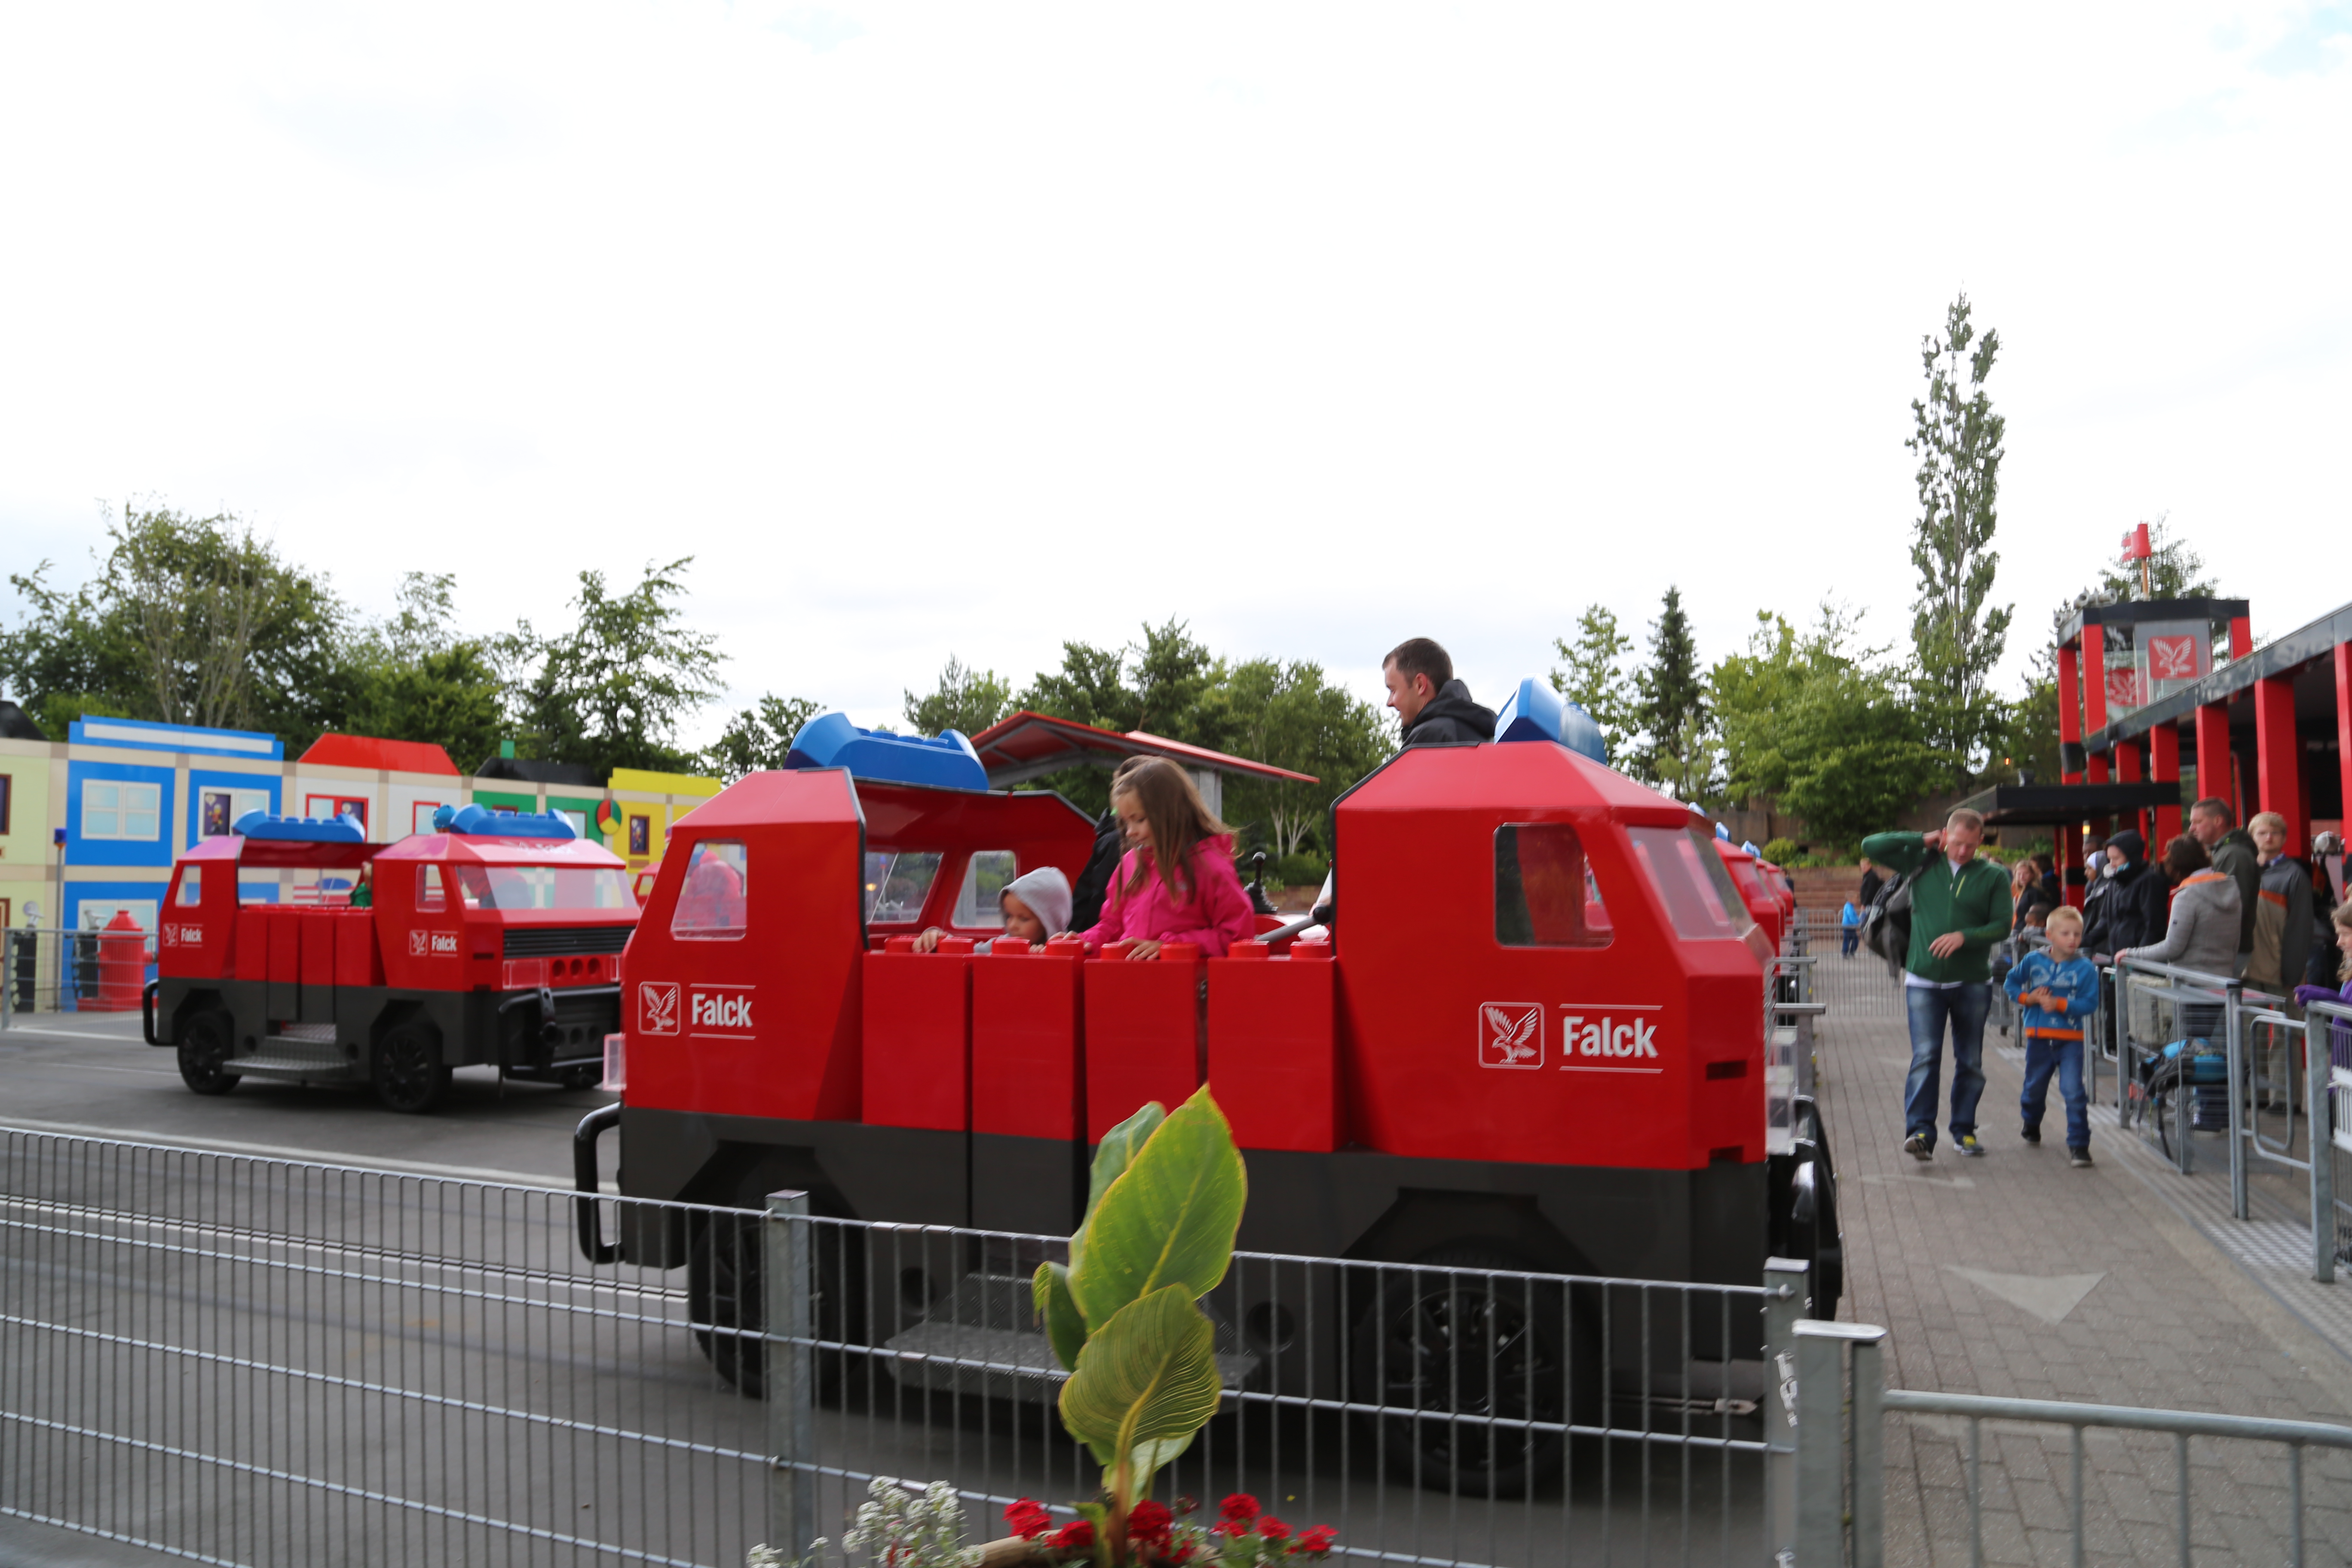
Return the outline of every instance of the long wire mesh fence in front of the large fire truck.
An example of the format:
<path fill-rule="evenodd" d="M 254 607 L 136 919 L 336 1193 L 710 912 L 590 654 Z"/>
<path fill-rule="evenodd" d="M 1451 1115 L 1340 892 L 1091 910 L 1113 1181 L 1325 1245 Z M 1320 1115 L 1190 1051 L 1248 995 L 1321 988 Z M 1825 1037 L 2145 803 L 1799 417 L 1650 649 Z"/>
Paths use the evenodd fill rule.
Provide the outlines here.
<path fill-rule="evenodd" d="M 950 1481 L 985 1535 L 1096 1486 L 1030 1324 L 1063 1255 L 800 1194 L 760 1215 L 0 1131 L 0 1512 L 209 1563 L 734 1566 L 837 1537 L 891 1476 Z M 1225 1410 L 1160 1490 L 1249 1490 L 1367 1561 L 1762 1561 L 1795 1528 L 1804 1272 L 1776 1267 L 1242 1253 L 1204 1300 Z"/>

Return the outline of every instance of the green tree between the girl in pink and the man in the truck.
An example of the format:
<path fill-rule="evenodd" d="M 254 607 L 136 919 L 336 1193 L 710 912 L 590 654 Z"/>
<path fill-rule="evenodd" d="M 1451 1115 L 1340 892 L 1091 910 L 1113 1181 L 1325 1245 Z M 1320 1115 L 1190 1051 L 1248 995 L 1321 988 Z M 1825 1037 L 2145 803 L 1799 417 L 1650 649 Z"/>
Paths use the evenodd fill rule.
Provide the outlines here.
<path fill-rule="evenodd" d="M 1317 780 L 1228 780 L 1228 820 L 1256 825 L 1277 860 L 1303 851 L 1329 820 L 1331 802 L 1397 750 L 1381 710 L 1334 686 L 1315 663 L 1242 661 L 1218 696 L 1230 750 Z"/>

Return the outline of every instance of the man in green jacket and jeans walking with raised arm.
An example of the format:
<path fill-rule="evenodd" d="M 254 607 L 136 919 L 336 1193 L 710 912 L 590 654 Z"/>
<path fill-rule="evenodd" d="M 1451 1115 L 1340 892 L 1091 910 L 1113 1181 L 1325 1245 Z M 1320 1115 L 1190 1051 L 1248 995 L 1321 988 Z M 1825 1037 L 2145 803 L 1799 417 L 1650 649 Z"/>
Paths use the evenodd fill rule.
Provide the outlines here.
<path fill-rule="evenodd" d="M 1936 1157 L 1936 1081 L 1943 1077 L 1943 1030 L 1952 1025 L 1952 1143 L 1983 1154 L 1976 1100 L 1985 1093 L 1985 1013 L 1992 1009 L 1992 945 L 2009 936 L 2009 877 L 1978 860 L 1985 818 L 1969 809 L 1940 832 L 1875 832 L 1863 853 L 1907 872 L 1912 936 L 1903 954 L 1903 1001 L 1910 1009 L 1912 1070 L 1903 1084 L 1903 1152 Z M 1943 851 L 1943 853 L 1938 853 Z"/>

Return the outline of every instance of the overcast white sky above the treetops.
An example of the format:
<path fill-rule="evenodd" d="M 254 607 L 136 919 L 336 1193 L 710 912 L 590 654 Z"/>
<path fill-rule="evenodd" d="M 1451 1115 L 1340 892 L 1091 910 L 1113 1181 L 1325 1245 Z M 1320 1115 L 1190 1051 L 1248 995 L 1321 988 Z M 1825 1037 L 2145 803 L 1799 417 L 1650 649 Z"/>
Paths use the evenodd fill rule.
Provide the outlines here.
<path fill-rule="evenodd" d="M 1496 701 L 1668 583 L 1905 637 L 1966 289 L 2009 672 L 2159 512 L 2279 632 L 2347 153 L 2352 5 L 12 5 L 0 569 L 148 498 L 480 630 L 694 555 L 736 701 L 868 722 L 1167 616 Z"/>

